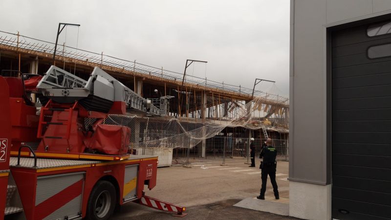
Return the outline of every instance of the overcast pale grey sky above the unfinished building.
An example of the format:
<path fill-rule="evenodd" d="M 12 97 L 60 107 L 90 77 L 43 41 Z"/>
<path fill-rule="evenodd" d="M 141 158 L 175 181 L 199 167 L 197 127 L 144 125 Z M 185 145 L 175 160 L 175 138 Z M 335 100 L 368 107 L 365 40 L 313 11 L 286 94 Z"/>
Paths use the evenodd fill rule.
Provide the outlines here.
<path fill-rule="evenodd" d="M 187 74 L 289 94 L 288 0 L 1 0 L 0 30 L 183 72 L 186 59 L 204 60 Z M 1 34 L 0 34 L 1 35 Z M 61 33 L 59 44 L 65 42 Z M 206 67 L 206 69 L 205 69 Z M 270 90 L 271 89 L 271 90 Z"/>

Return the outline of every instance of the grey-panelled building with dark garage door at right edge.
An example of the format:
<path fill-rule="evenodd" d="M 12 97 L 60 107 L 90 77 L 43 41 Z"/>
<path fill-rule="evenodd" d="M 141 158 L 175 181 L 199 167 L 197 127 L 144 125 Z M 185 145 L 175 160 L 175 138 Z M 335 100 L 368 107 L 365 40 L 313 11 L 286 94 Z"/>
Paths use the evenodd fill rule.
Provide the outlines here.
<path fill-rule="evenodd" d="M 291 0 L 289 214 L 391 218 L 391 0 Z"/>

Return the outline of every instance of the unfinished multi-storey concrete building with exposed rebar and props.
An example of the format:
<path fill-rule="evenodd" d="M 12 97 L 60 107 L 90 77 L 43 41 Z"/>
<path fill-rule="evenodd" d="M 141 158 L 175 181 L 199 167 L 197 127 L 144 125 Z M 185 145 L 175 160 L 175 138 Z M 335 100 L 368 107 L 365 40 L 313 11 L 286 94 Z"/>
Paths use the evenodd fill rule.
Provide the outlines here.
<path fill-rule="evenodd" d="M 169 108 L 165 116 L 130 110 L 129 117 L 112 115 L 107 122 L 129 126 L 130 147 L 143 149 L 143 154 L 154 148 L 190 148 L 205 157 L 222 145 L 217 143 L 219 137 L 231 138 L 232 155 L 243 155 L 240 152 L 246 149 L 249 137 L 282 140 L 282 149 L 287 149 L 287 98 L 65 44 L 57 45 L 54 59 L 54 47 L 50 42 L 0 31 L 0 70 L 43 75 L 54 64 L 87 80 L 98 66 L 158 108 L 163 104 L 161 97 L 166 97 Z"/>

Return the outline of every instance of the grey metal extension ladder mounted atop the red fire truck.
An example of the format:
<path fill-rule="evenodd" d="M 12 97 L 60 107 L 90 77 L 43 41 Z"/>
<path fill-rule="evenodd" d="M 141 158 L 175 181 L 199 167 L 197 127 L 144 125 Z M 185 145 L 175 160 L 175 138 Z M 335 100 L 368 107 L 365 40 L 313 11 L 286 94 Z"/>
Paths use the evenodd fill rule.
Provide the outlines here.
<path fill-rule="evenodd" d="M 37 85 L 44 98 L 56 103 L 78 101 L 86 110 L 109 112 L 114 102 L 125 102 L 127 110 L 166 114 L 99 67 L 95 67 L 86 81 L 56 66 L 51 66 Z M 164 96 L 161 98 L 165 98 Z M 163 105 L 164 107 L 164 105 Z M 162 112 L 162 113 L 161 113 Z"/>

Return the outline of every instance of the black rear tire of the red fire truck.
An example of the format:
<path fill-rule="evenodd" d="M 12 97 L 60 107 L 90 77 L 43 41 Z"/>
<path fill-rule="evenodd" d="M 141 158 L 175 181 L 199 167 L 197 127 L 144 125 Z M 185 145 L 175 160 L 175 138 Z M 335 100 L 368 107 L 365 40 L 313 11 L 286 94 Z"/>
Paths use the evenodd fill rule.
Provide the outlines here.
<path fill-rule="evenodd" d="M 87 220 L 108 220 L 113 214 L 116 201 L 115 187 L 109 181 L 97 182 L 87 204 Z"/>

